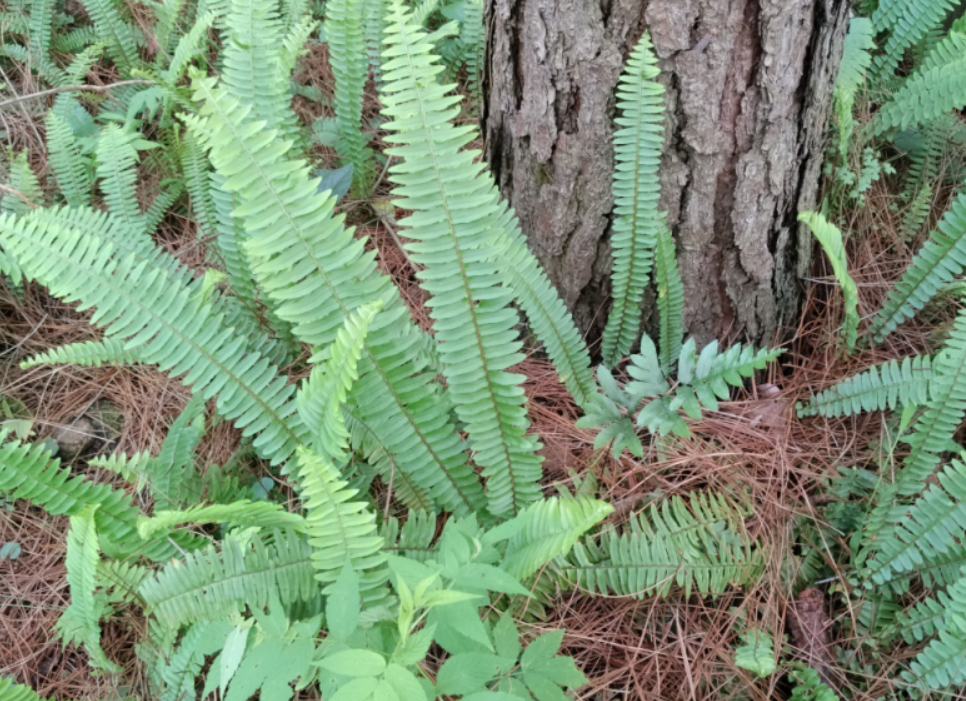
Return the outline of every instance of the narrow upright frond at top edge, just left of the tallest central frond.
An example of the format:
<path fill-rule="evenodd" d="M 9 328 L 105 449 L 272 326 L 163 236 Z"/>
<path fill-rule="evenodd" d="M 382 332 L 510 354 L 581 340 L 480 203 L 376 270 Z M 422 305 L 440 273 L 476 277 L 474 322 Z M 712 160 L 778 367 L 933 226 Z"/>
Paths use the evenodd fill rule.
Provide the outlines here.
<path fill-rule="evenodd" d="M 352 164 L 352 189 L 369 196 L 372 154 L 362 131 L 362 97 L 369 73 L 369 59 L 362 36 L 362 0 L 328 0 L 325 4 L 325 37 L 335 76 L 335 121 L 344 153 Z"/>

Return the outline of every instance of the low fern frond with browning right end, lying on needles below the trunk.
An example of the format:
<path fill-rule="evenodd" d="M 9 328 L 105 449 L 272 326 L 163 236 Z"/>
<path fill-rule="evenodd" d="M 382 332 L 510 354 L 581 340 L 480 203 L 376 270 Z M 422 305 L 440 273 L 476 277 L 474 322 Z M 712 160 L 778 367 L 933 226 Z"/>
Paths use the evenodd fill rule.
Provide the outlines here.
<path fill-rule="evenodd" d="M 564 579 L 591 593 L 666 596 L 720 594 L 757 581 L 764 558 L 744 530 L 745 514 L 723 496 L 672 497 L 650 505 L 623 534 L 578 542 L 560 565 Z"/>

